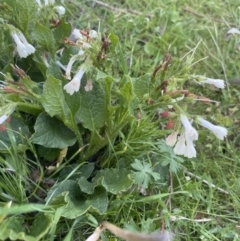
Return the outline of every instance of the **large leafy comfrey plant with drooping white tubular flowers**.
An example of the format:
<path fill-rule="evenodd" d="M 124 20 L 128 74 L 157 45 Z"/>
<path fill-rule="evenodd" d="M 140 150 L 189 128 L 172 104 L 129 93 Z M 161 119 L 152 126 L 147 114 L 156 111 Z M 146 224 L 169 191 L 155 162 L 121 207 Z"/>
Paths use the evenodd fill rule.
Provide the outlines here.
<path fill-rule="evenodd" d="M 183 88 L 190 82 L 222 89 L 223 80 L 191 75 L 192 59 L 172 59 L 168 50 L 158 66 L 133 77 L 121 39 L 101 33 L 101 26 L 72 28 L 68 13 L 74 10 L 66 2 L 1 3 L 0 201 L 15 208 L 4 209 L 1 240 L 53 238 L 60 217 L 113 219 L 115 210 L 108 210 L 129 196 L 150 207 L 139 193 L 159 199 L 166 187 L 159 173 L 177 172 L 184 161 L 177 155 L 197 156 L 195 122 L 220 140 L 227 136 L 224 127 L 193 114 L 192 104 L 211 100 Z M 44 205 L 25 205 L 31 202 Z M 19 214 L 14 206 L 23 203 L 23 215 L 6 217 Z M 131 210 L 131 203 L 124 205 Z M 28 231 L 24 213 L 36 210 Z M 105 225 L 127 239 L 173 238 L 167 231 L 134 236 Z"/>

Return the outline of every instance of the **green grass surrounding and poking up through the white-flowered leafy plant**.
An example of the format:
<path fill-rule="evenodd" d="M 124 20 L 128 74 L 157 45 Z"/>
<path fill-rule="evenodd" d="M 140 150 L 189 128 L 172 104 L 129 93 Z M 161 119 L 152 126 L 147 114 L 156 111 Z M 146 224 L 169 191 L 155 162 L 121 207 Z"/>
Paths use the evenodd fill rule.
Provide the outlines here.
<path fill-rule="evenodd" d="M 104 215 L 93 216 L 87 213 L 71 220 L 61 217 L 61 209 L 58 209 L 53 213 L 53 225 L 48 235 L 42 240 L 85 240 L 99 222 L 108 218 L 116 225 L 125 225 L 128 229 L 141 231 L 153 231 L 162 224 L 163 220 L 167 228 L 176 232 L 177 240 L 182 241 L 239 240 L 240 81 L 237 84 L 232 82 L 234 79 L 240 79 L 240 35 L 226 37 L 230 28 L 240 27 L 239 2 L 237 0 L 196 2 L 107 0 L 104 3 L 114 9 L 94 1 L 79 3 L 77 0 L 72 0 L 66 5 L 74 26 L 83 29 L 90 25 L 91 28 L 99 29 L 107 35 L 113 32 L 119 37 L 123 56 L 122 61 L 116 65 L 121 66 L 122 71 L 126 71 L 125 74 L 137 78 L 148 72 L 153 73 L 155 67 L 161 63 L 165 52 L 169 50 L 173 62 L 172 66 L 169 66 L 170 71 L 166 74 L 166 79 L 170 79 L 173 73 L 178 73 L 179 69 L 184 68 L 190 56 L 194 58 L 190 71 L 192 76 L 205 75 L 210 78 L 224 79 L 227 85 L 223 91 L 196 86 L 192 79 L 188 80 L 184 89 L 219 101 L 219 105 L 214 103 L 189 105 L 188 112 L 196 115 L 204 114 L 209 120 L 223 124 L 228 128 L 229 134 L 226 140 L 219 141 L 209 132 L 201 129 L 200 140 L 196 146 L 197 158 L 186 159 L 182 169 L 173 174 L 173 195 L 167 205 L 165 196 L 159 196 L 157 200 L 141 201 L 140 199 L 139 201 L 138 191 L 132 189 L 126 193 L 117 194 L 116 198 L 111 194 L 109 209 Z M 122 13 L 122 9 L 126 11 Z M 181 67 L 174 69 L 177 66 L 174 63 L 179 59 L 182 61 Z M 116 67 L 116 69 L 119 68 Z M 119 75 L 119 73 L 115 74 L 116 77 Z M 155 135 L 150 129 L 149 127 L 149 135 Z M 73 180 L 79 175 L 78 168 L 81 168 L 81 165 L 77 166 L 76 163 L 72 163 L 72 160 L 79 153 L 81 154 L 81 150 L 70 149 L 72 158 L 68 159 L 69 162 L 60 163 L 60 167 L 49 174 L 46 166 L 55 166 L 56 163 L 49 164 L 48 160 L 40 160 L 44 159 L 44 155 L 40 156 L 41 151 L 36 150 L 30 142 L 27 143 L 30 154 L 28 153 L 28 156 L 21 154 L 18 147 L 14 145 L 11 133 L 9 134 L 12 141 L 12 148 L 7 151 L 9 159 L 0 157 L 2 167 L 0 190 L 4 189 L 7 193 L 6 196 L 1 196 L 2 202 L 12 199 L 23 204 L 27 202 L 27 191 L 30 193 L 29 196 L 34 198 L 34 202 L 44 203 L 44 198 L 51 186 L 40 188 L 40 181 L 30 178 L 29 173 L 32 174 L 35 169 L 40 170 L 39 180 L 50 179 L 56 183 L 62 180 Z M 125 142 L 109 145 L 101 167 L 113 166 L 118 160 L 118 166 L 128 165 L 126 167 L 128 168 L 130 165 L 126 164 L 124 158 L 131 159 L 141 154 L 156 163 L 153 154 L 155 150 L 142 153 L 142 150 L 138 149 L 138 141 L 143 143 L 148 136 L 141 136 L 141 132 L 134 132 L 128 133 L 124 139 L 124 131 L 121 134 Z M 152 147 L 151 144 L 146 140 L 145 145 L 148 148 Z M 54 153 L 51 154 L 54 155 Z M 26 163 L 31 163 L 31 166 L 27 166 Z M 47 165 L 44 166 L 43 163 Z M 67 169 L 68 163 L 75 166 L 71 170 Z M 18 172 L 6 172 L 9 166 L 17 169 Z M 59 176 L 60 171 L 63 171 L 62 177 Z M 154 182 L 155 186 L 151 187 L 153 192 L 157 190 L 160 194 L 169 191 L 168 169 L 162 172 L 161 180 Z M 192 175 L 188 175 L 187 172 Z M 43 193 L 42 196 L 39 194 L 40 190 Z M 149 196 L 151 197 L 150 194 Z M 54 200 L 55 205 L 58 201 L 63 201 L 63 196 L 58 198 Z M 31 216 L 27 218 L 32 222 Z M 103 238 L 107 240 L 107 235 Z"/>

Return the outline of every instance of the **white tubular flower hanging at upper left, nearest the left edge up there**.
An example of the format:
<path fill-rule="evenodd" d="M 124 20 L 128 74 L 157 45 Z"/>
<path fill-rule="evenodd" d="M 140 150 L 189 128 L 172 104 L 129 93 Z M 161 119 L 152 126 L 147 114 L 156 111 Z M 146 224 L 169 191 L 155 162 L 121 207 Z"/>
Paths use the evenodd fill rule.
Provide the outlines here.
<path fill-rule="evenodd" d="M 33 54 L 36 51 L 36 49 L 28 43 L 21 32 L 12 32 L 11 35 L 17 45 L 17 52 L 21 58 L 26 58 L 28 55 Z"/>

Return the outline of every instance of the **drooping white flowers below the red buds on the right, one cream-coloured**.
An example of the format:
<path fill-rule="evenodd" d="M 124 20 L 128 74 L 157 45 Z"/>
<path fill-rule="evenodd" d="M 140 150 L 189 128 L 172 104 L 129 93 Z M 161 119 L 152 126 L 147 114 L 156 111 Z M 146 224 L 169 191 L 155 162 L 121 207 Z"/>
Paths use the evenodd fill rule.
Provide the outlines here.
<path fill-rule="evenodd" d="M 198 140 L 198 132 L 185 115 L 181 115 L 180 120 L 184 131 L 180 135 L 178 131 L 174 131 L 166 138 L 166 144 L 174 147 L 173 151 L 177 155 L 184 155 L 188 158 L 196 157 L 197 152 L 193 141 Z M 201 117 L 198 117 L 197 120 L 203 127 L 212 131 L 218 139 L 223 140 L 227 136 L 226 128 L 213 125 Z"/>

